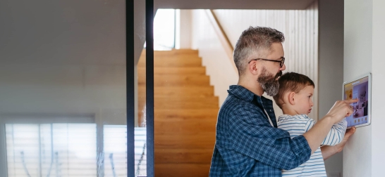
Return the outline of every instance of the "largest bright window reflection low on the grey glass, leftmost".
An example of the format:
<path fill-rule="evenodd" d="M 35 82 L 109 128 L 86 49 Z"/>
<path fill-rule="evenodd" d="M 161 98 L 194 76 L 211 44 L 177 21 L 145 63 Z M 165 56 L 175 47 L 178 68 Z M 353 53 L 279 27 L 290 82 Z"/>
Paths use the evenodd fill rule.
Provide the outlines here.
<path fill-rule="evenodd" d="M 97 176 L 96 124 L 6 124 L 8 176 Z"/>

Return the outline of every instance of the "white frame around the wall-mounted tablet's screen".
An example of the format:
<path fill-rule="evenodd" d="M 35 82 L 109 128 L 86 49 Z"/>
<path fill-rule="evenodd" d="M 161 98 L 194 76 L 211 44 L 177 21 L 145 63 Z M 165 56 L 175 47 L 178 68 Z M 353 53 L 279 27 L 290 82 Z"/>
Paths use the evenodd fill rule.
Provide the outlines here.
<path fill-rule="evenodd" d="M 358 81 L 360 79 L 363 79 L 367 77 L 367 123 L 365 124 L 358 124 L 355 125 L 355 127 L 360 127 L 360 126 L 367 126 L 372 123 L 372 73 L 367 73 L 365 75 L 362 75 L 360 77 L 356 77 L 353 80 L 343 82 L 342 84 L 342 99 L 344 99 L 344 94 L 345 94 L 345 85 L 350 84 L 354 81 Z M 348 126 L 348 129 L 350 129 L 351 126 Z"/>

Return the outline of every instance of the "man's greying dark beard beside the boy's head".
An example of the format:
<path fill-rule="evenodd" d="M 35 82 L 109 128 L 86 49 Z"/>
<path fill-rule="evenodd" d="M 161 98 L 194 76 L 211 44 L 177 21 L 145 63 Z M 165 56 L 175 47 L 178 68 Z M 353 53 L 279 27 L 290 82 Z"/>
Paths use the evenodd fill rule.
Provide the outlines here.
<path fill-rule="evenodd" d="M 281 75 L 282 71 L 279 71 L 279 73 L 274 76 L 274 74 L 270 74 L 266 68 L 263 67 L 257 81 L 268 96 L 276 96 L 279 89 L 278 78 L 281 77 Z"/>

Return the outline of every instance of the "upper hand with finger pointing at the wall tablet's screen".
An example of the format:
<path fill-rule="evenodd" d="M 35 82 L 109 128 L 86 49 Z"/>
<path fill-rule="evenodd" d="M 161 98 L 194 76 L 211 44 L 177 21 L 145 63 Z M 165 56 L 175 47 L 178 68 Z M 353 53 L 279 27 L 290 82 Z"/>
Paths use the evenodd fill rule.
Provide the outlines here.
<path fill-rule="evenodd" d="M 334 124 L 340 122 L 344 117 L 349 117 L 353 114 L 353 106 L 351 103 L 356 103 L 358 100 L 338 100 L 334 103 L 333 107 L 329 110 L 326 116 L 331 117 L 334 120 Z"/>

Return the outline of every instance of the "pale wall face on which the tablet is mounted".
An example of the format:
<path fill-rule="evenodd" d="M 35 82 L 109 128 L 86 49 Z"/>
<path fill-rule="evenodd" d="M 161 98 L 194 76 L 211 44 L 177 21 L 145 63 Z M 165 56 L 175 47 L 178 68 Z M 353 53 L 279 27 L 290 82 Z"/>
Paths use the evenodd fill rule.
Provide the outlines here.
<path fill-rule="evenodd" d="M 374 0 L 378 2 L 377 0 Z M 383 176 L 381 173 L 374 173 L 372 169 L 384 164 L 385 159 L 381 159 L 381 163 L 373 163 L 373 158 L 377 156 L 374 154 L 373 147 L 374 137 L 383 135 L 383 132 L 374 132 L 373 128 L 378 130 L 379 126 L 384 126 L 379 122 L 381 119 L 381 105 L 383 101 L 377 98 L 384 95 L 379 91 L 384 84 L 382 83 L 381 75 L 384 72 L 378 70 L 379 60 L 383 60 L 381 56 L 374 53 L 374 48 L 384 46 L 381 43 L 374 43 L 373 39 L 377 41 L 380 34 L 374 36 L 374 31 L 378 32 L 377 24 L 374 23 L 374 4 L 372 0 L 350 0 L 345 1 L 344 12 L 344 49 L 343 49 L 343 80 L 348 81 L 359 77 L 367 72 L 372 72 L 372 124 L 357 128 L 355 134 L 350 138 L 343 150 L 343 175 L 344 176 Z M 377 18 L 375 18 L 377 19 Z M 384 19 L 384 17 L 382 17 Z M 376 22 L 381 23 L 381 22 Z M 377 30 L 374 30 L 376 27 Z M 381 29 L 383 32 L 383 29 Z M 380 49 L 383 50 L 383 49 Z M 378 52 L 378 51 L 377 51 Z M 374 59 L 374 54 L 376 54 Z M 376 70 L 374 70 L 376 68 Z M 377 105 L 378 104 L 378 105 Z M 377 109 L 376 109 L 377 107 Z M 375 125 L 375 126 L 374 126 Z M 379 134 L 377 134 L 379 133 Z M 383 142 L 383 140 L 381 140 Z M 379 145 L 384 147 L 384 145 Z M 383 151 L 384 149 L 382 149 Z"/>

